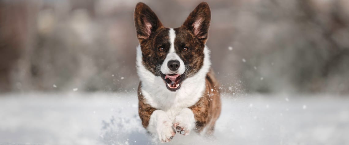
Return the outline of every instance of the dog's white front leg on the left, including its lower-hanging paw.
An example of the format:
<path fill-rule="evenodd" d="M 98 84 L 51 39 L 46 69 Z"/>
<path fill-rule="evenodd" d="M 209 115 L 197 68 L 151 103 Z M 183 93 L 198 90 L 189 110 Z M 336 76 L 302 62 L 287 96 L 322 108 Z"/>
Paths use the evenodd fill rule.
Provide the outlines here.
<path fill-rule="evenodd" d="M 172 121 L 162 110 L 155 110 L 150 116 L 148 131 L 156 134 L 161 142 L 169 142 L 176 131 L 172 127 Z"/>

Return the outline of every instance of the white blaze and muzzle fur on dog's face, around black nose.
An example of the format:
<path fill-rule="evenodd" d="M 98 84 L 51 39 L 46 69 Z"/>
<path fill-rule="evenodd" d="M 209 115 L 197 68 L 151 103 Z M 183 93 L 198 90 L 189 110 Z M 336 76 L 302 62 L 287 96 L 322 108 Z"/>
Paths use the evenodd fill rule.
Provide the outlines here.
<path fill-rule="evenodd" d="M 183 74 L 185 71 L 184 62 L 182 61 L 182 59 L 180 59 L 180 57 L 176 53 L 176 50 L 174 49 L 174 39 L 176 39 L 176 33 L 172 28 L 169 31 L 169 37 L 170 37 L 170 50 L 164 62 L 161 65 L 161 72 L 163 74 L 173 74 L 173 73 Z M 169 69 L 169 67 L 167 66 L 167 63 L 169 61 L 179 61 L 180 66 L 177 71 L 171 71 Z"/>

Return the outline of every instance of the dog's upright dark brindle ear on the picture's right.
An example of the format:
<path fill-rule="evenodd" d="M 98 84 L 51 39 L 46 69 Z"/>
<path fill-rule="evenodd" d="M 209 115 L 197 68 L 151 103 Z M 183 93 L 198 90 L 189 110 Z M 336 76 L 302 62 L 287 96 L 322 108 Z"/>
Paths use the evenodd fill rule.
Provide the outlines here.
<path fill-rule="evenodd" d="M 183 27 L 192 31 L 196 38 L 204 44 L 208 38 L 208 29 L 211 21 L 211 10 L 206 2 L 201 2 L 190 13 L 188 18 L 183 23 Z"/>

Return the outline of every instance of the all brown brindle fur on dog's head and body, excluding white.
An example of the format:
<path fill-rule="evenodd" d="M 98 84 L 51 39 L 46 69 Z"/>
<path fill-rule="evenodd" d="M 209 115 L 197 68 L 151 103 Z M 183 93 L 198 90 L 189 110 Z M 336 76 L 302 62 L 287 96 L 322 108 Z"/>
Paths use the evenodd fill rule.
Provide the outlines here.
<path fill-rule="evenodd" d="M 186 78 L 195 75 L 203 65 L 203 49 L 208 39 L 210 18 L 209 6 L 206 2 L 202 2 L 190 13 L 181 27 L 174 29 L 176 34 L 174 49 L 185 64 Z M 201 25 L 194 27 L 198 19 Z M 156 14 L 141 2 L 136 6 L 134 22 L 142 51 L 142 64 L 154 75 L 161 76 L 162 73 L 158 70 L 158 66 L 164 62 L 170 49 L 169 28 L 164 27 Z M 159 51 L 159 47 L 164 48 L 164 51 Z M 183 51 L 184 47 L 187 47 L 188 50 Z M 150 116 L 157 108 L 147 104 L 141 88 L 142 82 L 139 83 L 138 87 L 139 116 L 143 127 L 147 128 Z M 193 111 L 196 121 L 194 130 L 199 133 L 207 127 L 206 133 L 210 135 L 221 112 L 218 83 L 212 71 L 206 76 L 206 89 L 202 97 L 189 108 Z"/>

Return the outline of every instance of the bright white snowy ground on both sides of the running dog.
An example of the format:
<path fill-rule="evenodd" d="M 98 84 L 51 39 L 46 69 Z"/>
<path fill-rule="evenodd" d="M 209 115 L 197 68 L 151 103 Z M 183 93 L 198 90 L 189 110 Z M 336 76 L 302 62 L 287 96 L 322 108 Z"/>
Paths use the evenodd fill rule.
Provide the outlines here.
<path fill-rule="evenodd" d="M 349 144 L 349 99 L 332 95 L 224 96 L 215 136 L 166 144 Z M 157 144 L 136 92 L 0 94 L 0 144 Z"/>

